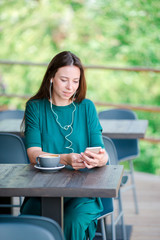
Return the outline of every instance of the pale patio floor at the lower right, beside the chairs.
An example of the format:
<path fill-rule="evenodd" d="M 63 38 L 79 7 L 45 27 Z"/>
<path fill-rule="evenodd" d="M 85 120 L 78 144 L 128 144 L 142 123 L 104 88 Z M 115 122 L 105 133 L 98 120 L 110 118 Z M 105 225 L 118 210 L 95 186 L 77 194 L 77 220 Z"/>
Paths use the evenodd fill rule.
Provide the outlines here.
<path fill-rule="evenodd" d="M 122 193 L 125 224 L 132 226 L 129 240 L 160 239 L 160 176 L 135 172 L 139 214 L 134 212 L 132 191 Z"/>

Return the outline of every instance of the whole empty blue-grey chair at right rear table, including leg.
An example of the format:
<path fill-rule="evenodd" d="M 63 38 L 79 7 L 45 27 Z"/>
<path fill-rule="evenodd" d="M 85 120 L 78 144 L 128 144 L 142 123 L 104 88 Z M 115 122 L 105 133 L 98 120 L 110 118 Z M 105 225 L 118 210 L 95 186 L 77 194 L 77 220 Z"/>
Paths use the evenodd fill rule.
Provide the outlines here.
<path fill-rule="evenodd" d="M 137 119 L 136 114 L 128 109 L 110 109 L 99 113 L 100 119 Z M 136 195 L 136 186 L 134 180 L 133 159 L 139 155 L 138 139 L 112 139 L 118 154 L 119 161 L 128 161 L 130 170 L 128 174 L 131 176 L 131 185 L 125 189 L 133 190 L 135 203 L 135 211 L 138 213 L 138 202 Z"/>

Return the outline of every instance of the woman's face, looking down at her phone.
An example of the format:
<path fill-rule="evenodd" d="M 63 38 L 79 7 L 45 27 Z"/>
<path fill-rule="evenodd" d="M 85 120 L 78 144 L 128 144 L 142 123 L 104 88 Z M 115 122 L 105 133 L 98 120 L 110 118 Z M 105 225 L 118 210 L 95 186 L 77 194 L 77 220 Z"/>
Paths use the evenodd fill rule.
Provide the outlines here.
<path fill-rule="evenodd" d="M 56 105 L 68 105 L 71 97 L 79 87 L 80 69 L 76 66 L 65 66 L 58 69 L 53 78 L 53 102 Z"/>

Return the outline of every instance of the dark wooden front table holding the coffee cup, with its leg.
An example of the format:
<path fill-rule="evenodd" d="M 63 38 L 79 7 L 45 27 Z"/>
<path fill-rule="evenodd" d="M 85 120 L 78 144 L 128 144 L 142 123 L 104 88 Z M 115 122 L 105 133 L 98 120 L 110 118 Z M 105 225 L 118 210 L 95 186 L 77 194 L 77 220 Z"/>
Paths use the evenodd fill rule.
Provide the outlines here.
<path fill-rule="evenodd" d="M 116 197 L 122 175 L 121 165 L 47 173 L 31 164 L 0 164 L 0 197 L 41 197 L 42 216 L 63 229 L 63 197 Z"/>

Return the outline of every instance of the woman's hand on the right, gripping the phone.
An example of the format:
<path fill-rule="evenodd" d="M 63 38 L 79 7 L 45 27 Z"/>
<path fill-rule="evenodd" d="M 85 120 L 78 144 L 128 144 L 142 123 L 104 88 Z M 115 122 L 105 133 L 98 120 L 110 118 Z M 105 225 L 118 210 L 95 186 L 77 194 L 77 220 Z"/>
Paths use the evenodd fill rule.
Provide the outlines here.
<path fill-rule="evenodd" d="M 102 167 L 108 162 L 108 154 L 104 149 L 101 149 L 99 153 L 85 151 L 81 153 L 81 156 L 87 168 Z"/>

